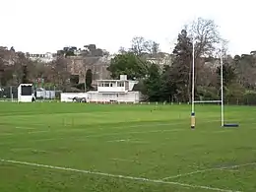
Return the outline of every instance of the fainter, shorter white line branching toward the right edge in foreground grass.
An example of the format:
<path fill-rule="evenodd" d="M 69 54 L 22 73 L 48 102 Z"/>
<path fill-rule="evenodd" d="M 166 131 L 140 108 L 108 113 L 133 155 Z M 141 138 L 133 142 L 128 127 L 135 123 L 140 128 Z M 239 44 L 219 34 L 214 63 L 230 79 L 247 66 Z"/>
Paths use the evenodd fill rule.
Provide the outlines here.
<path fill-rule="evenodd" d="M 188 175 L 197 174 L 197 173 L 203 173 L 203 172 L 207 172 L 207 171 L 211 171 L 211 170 L 228 170 L 228 169 L 232 169 L 232 168 L 238 168 L 238 167 L 242 167 L 242 166 L 249 166 L 249 165 L 255 165 L 255 164 L 256 164 L 256 162 L 250 162 L 250 163 L 237 164 L 237 165 L 231 165 L 231 166 L 206 168 L 206 169 L 202 169 L 202 170 L 196 170 L 193 172 L 187 172 L 187 173 L 183 173 L 183 174 L 177 174 L 177 175 L 173 175 L 173 176 L 164 177 L 161 180 L 168 180 L 168 179 L 172 179 L 172 178 L 178 178 L 178 177 L 188 176 Z"/>

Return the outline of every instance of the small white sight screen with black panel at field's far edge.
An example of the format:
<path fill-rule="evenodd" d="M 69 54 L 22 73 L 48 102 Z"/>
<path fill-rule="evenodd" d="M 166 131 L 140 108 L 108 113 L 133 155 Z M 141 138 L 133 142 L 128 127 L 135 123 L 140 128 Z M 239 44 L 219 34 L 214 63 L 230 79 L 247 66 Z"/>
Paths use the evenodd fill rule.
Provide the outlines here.
<path fill-rule="evenodd" d="M 18 87 L 18 102 L 32 102 L 32 84 L 21 84 Z"/>

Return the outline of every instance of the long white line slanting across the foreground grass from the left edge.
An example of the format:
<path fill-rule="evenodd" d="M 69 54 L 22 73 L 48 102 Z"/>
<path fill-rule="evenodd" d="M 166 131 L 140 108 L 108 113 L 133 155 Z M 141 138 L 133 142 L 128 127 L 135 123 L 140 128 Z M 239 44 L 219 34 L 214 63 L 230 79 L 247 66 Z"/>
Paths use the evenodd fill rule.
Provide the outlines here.
<path fill-rule="evenodd" d="M 50 168 L 50 169 L 55 169 L 55 170 L 63 170 L 63 171 L 72 171 L 72 172 L 93 174 L 93 175 L 97 175 L 97 176 L 106 176 L 106 177 L 112 177 L 112 178 L 122 178 L 122 179 L 129 179 L 129 180 L 144 181 L 144 182 L 150 182 L 150 183 L 170 184 L 170 185 L 177 185 L 177 186 L 182 186 L 182 187 L 207 189 L 207 190 L 220 191 L 220 192 L 239 192 L 239 191 L 232 191 L 232 190 L 228 190 L 228 189 L 221 189 L 221 188 L 215 188 L 215 187 L 209 187 L 209 186 L 192 185 L 192 184 L 186 184 L 186 183 L 180 183 L 180 182 L 170 182 L 170 181 L 163 181 L 163 180 L 159 180 L 159 179 L 149 179 L 149 178 L 144 178 L 144 177 L 133 177 L 133 176 L 120 175 L 120 174 L 117 175 L 117 174 L 111 174 L 111 173 L 105 173 L 105 172 L 96 172 L 96 171 L 82 170 L 82 169 L 75 169 L 75 168 L 69 168 L 69 167 L 63 167 L 63 166 L 53 166 L 53 165 L 39 164 L 39 163 L 33 163 L 33 162 L 28 162 L 28 161 L 3 160 L 3 159 L 0 159 L 0 161 L 14 163 L 14 164 L 22 164 L 22 165 L 28 165 L 28 166 L 41 167 L 41 168 Z"/>

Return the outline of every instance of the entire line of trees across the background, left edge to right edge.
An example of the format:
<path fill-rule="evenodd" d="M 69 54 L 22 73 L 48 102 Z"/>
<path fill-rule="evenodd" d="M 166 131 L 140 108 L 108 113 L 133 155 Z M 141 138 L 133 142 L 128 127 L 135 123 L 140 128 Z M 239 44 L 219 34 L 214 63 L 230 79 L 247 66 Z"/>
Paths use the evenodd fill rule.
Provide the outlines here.
<path fill-rule="evenodd" d="M 184 26 L 177 35 L 172 53 L 163 62 L 160 44 L 142 36 L 132 39 L 131 47 L 121 47 L 111 59 L 107 70 L 112 79 L 126 74 L 131 80 L 138 80 L 135 90 L 145 100 L 189 102 L 191 101 L 192 50 L 195 58 L 196 99 L 220 98 L 220 58 L 224 58 L 224 98 L 229 103 L 256 104 L 256 51 L 250 54 L 227 55 L 227 41 L 222 38 L 213 20 L 199 18 Z M 220 46 L 220 45 L 223 46 Z M 31 60 L 26 53 L 15 51 L 14 47 L 0 47 L 0 87 L 17 86 L 21 83 L 43 83 L 54 85 L 64 92 L 79 92 L 85 85 L 68 67 L 68 56 L 76 56 L 78 48 L 64 47 L 50 63 Z M 80 50 L 82 56 L 103 56 L 108 54 L 96 45 L 90 44 Z M 153 58 L 153 59 L 152 59 Z M 154 60 L 155 59 L 155 60 Z M 92 71 L 86 75 L 86 87 L 92 88 Z"/>

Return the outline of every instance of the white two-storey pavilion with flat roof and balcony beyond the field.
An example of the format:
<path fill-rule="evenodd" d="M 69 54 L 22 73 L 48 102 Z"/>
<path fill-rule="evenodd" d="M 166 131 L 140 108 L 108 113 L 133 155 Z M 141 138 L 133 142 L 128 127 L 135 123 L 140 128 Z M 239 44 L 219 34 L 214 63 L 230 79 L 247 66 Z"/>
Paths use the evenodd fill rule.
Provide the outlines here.
<path fill-rule="evenodd" d="M 138 81 L 127 80 L 127 75 L 120 75 L 119 80 L 98 80 L 97 91 L 88 92 L 89 102 L 132 102 L 140 100 L 140 93 L 133 92 Z"/>

